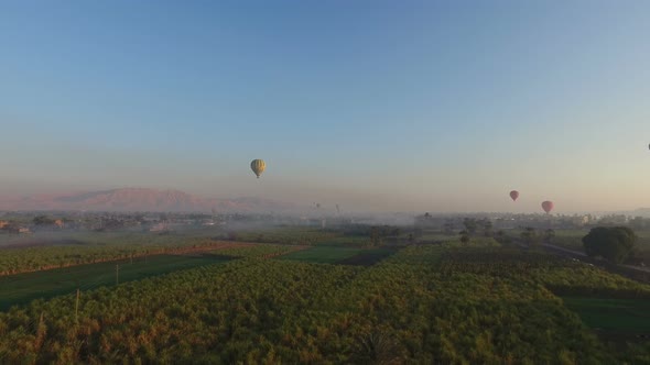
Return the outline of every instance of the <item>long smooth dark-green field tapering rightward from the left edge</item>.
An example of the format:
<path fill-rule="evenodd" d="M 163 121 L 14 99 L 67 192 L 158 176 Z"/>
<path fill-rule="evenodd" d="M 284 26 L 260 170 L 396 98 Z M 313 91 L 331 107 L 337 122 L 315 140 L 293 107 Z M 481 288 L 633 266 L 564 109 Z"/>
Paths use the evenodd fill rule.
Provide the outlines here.
<path fill-rule="evenodd" d="M 0 277 L 0 310 L 33 299 L 52 298 L 74 292 L 77 288 L 89 290 L 116 284 L 116 265 L 119 265 L 119 283 L 139 280 L 185 268 L 224 263 L 229 258 L 217 255 L 156 255 L 147 258 L 79 265 L 45 272 L 25 273 Z"/>

